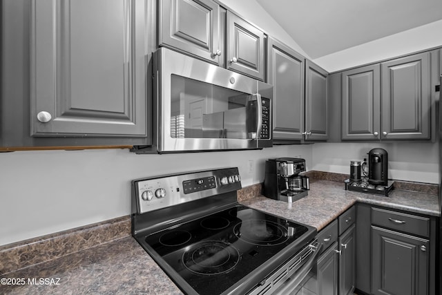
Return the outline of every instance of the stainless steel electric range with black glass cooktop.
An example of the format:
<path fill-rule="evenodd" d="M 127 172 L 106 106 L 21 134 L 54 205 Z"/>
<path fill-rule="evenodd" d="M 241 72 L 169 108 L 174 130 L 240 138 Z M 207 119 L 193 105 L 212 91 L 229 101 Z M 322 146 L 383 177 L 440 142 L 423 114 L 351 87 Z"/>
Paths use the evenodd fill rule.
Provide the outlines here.
<path fill-rule="evenodd" d="M 242 206 L 238 168 L 132 182 L 132 234 L 186 294 L 282 294 L 316 263 L 316 229 Z"/>

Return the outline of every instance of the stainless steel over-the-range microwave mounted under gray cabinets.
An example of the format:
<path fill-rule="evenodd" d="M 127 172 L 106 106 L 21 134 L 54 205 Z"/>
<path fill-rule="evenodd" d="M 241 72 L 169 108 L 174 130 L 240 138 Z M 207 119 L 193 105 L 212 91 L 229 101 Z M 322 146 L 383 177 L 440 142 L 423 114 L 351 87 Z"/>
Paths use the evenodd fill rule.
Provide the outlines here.
<path fill-rule="evenodd" d="M 270 147 L 272 99 L 270 84 L 160 48 L 153 54 L 153 148 Z"/>

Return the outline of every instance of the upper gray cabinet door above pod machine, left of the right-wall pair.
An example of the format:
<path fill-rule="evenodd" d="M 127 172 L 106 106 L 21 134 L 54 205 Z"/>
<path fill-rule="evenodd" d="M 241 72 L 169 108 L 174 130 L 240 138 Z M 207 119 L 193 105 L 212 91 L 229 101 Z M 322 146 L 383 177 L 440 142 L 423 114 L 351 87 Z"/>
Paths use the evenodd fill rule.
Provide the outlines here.
<path fill-rule="evenodd" d="M 380 139 L 379 64 L 345 70 L 342 73 L 342 99 L 342 139 Z"/>

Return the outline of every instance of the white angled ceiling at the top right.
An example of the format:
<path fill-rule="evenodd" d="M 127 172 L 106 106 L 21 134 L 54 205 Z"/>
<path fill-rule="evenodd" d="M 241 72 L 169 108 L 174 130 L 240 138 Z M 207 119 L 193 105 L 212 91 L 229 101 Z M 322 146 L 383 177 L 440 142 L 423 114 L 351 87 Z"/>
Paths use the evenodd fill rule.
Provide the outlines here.
<path fill-rule="evenodd" d="M 442 0 L 256 1 L 311 59 L 442 19 Z"/>

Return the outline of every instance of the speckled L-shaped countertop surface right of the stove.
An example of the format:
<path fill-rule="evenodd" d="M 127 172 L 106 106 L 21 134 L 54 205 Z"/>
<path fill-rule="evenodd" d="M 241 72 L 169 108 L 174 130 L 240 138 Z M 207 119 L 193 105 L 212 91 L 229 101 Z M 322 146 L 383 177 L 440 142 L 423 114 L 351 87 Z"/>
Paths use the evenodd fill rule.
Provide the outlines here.
<path fill-rule="evenodd" d="M 291 204 L 258 196 L 241 203 L 287 219 L 302 222 L 318 231 L 332 222 L 356 202 L 400 209 L 428 216 L 440 216 L 438 196 L 416 191 L 393 190 L 388 197 L 345 191 L 343 182 L 316 180 L 309 195 Z"/>

